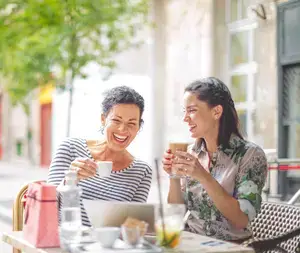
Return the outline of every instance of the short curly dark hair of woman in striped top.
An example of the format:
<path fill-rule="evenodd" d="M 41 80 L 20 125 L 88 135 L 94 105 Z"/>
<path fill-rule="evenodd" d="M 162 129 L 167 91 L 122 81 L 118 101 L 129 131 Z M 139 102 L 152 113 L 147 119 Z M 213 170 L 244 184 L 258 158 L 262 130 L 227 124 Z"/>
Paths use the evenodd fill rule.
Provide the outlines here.
<path fill-rule="evenodd" d="M 104 93 L 104 99 L 102 101 L 102 112 L 105 116 L 109 113 L 111 108 L 117 104 L 134 104 L 140 109 L 140 125 L 143 124 L 143 113 L 145 102 L 144 98 L 136 92 L 134 89 L 128 86 L 118 86 L 109 89 Z"/>

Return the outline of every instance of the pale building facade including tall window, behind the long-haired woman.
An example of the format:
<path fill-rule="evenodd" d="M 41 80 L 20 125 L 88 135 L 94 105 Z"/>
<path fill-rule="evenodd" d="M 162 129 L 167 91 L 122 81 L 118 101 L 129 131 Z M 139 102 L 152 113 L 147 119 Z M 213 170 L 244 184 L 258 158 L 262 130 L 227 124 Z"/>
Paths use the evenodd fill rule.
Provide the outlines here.
<path fill-rule="evenodd" d="M 179 125 L 174 120 L 181 116 L 184 86 L 217 76 L 231 89 L 247 138 L 265 149 L 277 147 L 276 3 L 263 1 L 266 20 L 251 12 L 257 3 L 165 1 L 167 105 L 173 107 L 168 129 Z"/>

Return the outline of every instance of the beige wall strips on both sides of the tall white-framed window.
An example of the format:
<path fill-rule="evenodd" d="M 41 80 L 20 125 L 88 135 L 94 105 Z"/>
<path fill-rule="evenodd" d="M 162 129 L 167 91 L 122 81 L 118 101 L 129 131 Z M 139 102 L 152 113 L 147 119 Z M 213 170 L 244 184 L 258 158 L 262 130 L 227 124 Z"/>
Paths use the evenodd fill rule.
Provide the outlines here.
<path fill-rule="evenodd" d="M 259 1 L 252 0 L 251 4 Z M 261 2 L 261 1 L 260 1 Z M 229 41 L 226 24 L 226 1 L 216 0 L 215 38 L 216 75 L 228 85 Z M 254 61 L 257 63 L 255 74 L 256 109 L 253 117 L 252 141 L 265 149 L 277 147 L 277 48 L 276 48 L 276 3 L 264 1 L 267 20 L 255 18 Z"/>

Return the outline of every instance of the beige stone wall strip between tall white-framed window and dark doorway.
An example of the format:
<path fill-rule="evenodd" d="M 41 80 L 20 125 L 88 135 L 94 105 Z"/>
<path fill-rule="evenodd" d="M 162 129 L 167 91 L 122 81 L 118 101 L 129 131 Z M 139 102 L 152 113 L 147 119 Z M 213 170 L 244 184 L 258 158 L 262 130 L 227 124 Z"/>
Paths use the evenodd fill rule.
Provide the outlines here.
<path fill-rule="evenodd" d="M 276 6 L 264 4 L 268 19 L 259 20 L 255 33 L 257 72 L 257 110 L 255 134 L 264 148 L 277 148 L 277 38 Z"/>

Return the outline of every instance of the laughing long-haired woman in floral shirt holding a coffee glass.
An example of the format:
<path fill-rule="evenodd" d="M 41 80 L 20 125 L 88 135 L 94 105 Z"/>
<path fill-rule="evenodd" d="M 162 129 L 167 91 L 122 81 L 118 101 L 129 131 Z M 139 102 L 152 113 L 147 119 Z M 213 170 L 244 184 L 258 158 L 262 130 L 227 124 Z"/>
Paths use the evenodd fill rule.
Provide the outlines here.
<path fill-rule="evenodd" d="M 189 84 L 184 107 L 195 142 L 188 152 L 164 154 L 164 170 L 185 178 L 170 177 L 168 202 L 186 204 L 190 232 L 228 241 L 251 237 L 267 175 L 264 151 L 241 135 L 230 91 L 217 78 Z"/>

